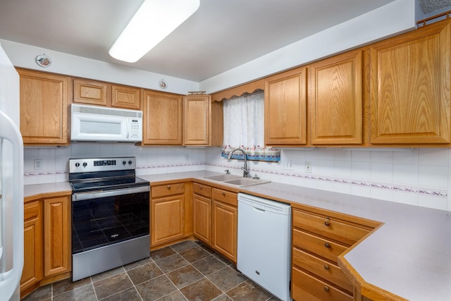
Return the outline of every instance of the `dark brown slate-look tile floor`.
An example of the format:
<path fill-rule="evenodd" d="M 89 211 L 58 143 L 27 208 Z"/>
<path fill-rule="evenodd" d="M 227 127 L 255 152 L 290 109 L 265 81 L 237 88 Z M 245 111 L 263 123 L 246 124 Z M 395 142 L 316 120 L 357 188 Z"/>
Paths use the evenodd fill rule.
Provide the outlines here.
<path fill-rule="evenodd" d="M 249 281 L 235 265 L 200 242 L 188 240 L 150 257 L 74 283 L 52 283 L 23 300 L 278 300 Z"/>

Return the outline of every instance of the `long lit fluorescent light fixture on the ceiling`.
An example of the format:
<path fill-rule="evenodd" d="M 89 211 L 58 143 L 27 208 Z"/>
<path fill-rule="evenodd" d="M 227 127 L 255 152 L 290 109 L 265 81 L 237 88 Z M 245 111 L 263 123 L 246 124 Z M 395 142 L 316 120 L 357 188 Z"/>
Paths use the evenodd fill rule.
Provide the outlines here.
<path fill-rule="evenodd" d="M 120 61 L 135 63 L 199 8 L 199 0 L 145 0 L 109 50 Z"/>

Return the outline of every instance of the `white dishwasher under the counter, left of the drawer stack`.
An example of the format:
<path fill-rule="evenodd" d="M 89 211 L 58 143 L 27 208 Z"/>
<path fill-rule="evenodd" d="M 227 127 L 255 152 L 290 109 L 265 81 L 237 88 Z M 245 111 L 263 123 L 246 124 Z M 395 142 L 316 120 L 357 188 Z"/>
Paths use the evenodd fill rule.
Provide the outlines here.
<path fill-rule="evenodd" d="M 291 207 L 238 193 L 237 269 L 280 300 L 290 298 Z"/>

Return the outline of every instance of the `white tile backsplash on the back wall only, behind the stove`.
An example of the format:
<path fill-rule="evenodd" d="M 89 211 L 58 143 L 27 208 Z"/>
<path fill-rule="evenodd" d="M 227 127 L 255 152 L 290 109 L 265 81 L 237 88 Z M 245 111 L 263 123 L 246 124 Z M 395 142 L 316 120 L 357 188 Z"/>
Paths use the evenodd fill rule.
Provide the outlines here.
<path fill-rule="evenodd" d="M 185 147 L 136 147 L 121 143 L 75 143 L 68 147 L 25 147 L 24 184 L 68 181 L 68 160 L 108 156 L 136 156 L 137 176 L 204 170 L 205 149 Z M 35 159 L 42 169 L 35 170 Z"/>

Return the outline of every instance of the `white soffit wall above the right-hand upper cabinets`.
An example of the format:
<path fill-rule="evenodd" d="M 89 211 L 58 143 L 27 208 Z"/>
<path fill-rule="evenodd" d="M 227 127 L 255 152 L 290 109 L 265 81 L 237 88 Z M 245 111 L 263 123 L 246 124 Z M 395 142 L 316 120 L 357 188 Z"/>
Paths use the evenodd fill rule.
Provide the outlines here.
<path fill-rule="evenodd" d="M 397 0 L 200 82 L 207 93 L 225 90 L 281 70 L 415 28 L 414 0 Z"/>

